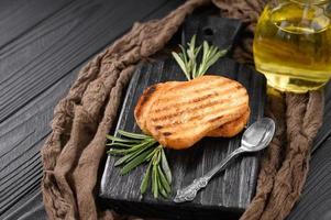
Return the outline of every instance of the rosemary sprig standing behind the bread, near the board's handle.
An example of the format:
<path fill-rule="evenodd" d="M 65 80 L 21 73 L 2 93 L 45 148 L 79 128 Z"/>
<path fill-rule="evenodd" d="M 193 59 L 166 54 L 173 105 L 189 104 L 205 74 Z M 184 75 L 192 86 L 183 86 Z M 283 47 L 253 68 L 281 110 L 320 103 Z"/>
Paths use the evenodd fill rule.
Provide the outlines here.
<path fill-rule="evenodd" d="M 208 68 L 228 52 L 228 48 L 219 50 L 217 46 L 210 46 L 206 41 L 203 41 L 202 46 L 196 47 L 196 35 L 192 36 L 187 46 L 188 48 L 185 48 L 183 45 L 179 45 L 181 52 L 173 52 L 172 54 L 188 80 L 203 76 Z M 197 59 L 201 47 L 203 54 L 198 66 Z"/>

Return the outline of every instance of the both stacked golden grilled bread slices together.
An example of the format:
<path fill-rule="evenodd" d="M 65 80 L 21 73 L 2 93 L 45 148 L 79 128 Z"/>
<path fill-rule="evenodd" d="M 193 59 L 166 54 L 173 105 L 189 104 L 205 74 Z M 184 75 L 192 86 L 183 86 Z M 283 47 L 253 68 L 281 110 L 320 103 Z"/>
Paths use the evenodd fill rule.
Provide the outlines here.
<path fill-rule="evenodd" d="M 234 98 L 235 100 L 230 100 Z M 231 107 L 230 102 L 239 100 L 243 103 L 236 106 L 236 109 Z M 152 134 L 161 144 L 173 148 L 186 148 L 203 136 L 231 138 L 241 132 L 250 118 L 247 100 L 246 90 L 239 82 L 219 76 L 203 76 L 199 80 L 167 81 L 148 87 L 137 101 L 134 117 L 142 131 Z M 151 112 L 152 107 L 153 112 Z M 232 114 L 219 114 L 220 111 L 229 112 L 229 107 L 234 111 Z M 210 117 L 203 123 L 206 131 L 214 124 L 221 123 L 221 125 L 208 132 L 203 130 L 205 134 L 197 135 L 196 130 L 199 124 L 194 125 L 194 122 L 206 118 L 206 114 L 200 113 L 203 110 L 211 110 L 207 113 Z M 180 130 L 177 129 L 180 125 L 178 119 L 188 114 L 192 127 L 188 125 L 188 129 L 194 135 L 176 136 L 176 132 L 180 134 Z M 152 128 L 148 127 L 151 120 L 152 124 L 154 123 Z M 187 131 L 183 124 L 181 128 Z"/>

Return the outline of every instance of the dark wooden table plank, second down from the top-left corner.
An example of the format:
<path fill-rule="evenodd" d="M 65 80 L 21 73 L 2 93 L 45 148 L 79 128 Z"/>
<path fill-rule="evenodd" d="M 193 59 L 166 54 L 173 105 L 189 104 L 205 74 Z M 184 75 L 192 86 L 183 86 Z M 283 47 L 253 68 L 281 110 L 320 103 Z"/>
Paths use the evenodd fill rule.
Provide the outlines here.
<path fill-rule="evenodd" d="M 165 3 L 77 1 L 4 46 L 0 50 L 0 122 Z"/>

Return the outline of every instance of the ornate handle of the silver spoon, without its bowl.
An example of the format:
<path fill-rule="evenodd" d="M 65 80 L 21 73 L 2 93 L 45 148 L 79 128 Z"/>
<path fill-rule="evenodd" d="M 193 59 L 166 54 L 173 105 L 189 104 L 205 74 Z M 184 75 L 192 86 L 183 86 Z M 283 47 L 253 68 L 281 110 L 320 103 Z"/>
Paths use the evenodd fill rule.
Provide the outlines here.
<path fill-rule="evenodd" d="M 214 166 L 211 170 L 209 170 L 206 175 L 196 178 L 190 185 L 186 186 L 183 189 L 178 189 L 176 197 L 174 199 L 175 202 L 184 202 L 184 201 L 191 201 L 196 198 L 197 193 L 205 188 L 209 180 L 220 170 L 224 169 L 227 164 L 236 155 L 243 153 L 244 150 L 242 147 L 236 148 L 233 151 L 229 156 L 227 156 L 221 163 Z"/>

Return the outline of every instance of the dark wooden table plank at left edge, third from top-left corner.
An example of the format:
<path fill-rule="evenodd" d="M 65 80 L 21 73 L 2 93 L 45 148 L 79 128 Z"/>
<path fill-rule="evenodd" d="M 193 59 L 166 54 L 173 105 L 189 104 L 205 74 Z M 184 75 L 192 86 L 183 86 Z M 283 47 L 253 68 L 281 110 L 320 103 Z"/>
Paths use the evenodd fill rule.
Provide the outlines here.
<path fill-rule="evenodd" d="M 63 78 L 1 124 L 0 213 L 40 186 L 40 148 L 51 132 L 54 106 L 74 79 L 74 73 Z"/>

